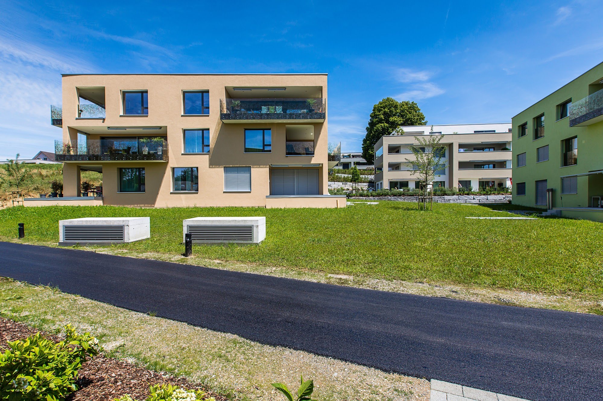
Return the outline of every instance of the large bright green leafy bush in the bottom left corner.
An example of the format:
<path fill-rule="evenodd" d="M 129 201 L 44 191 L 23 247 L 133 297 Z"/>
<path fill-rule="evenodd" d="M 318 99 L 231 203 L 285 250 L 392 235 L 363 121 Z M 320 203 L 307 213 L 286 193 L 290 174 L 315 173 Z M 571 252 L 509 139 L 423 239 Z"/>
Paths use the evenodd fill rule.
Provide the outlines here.
<path fill-rule="evenodd" d="M 65 340 L 55 343 L 37 333 L 8 341 L 0 355 L 0 394 L 8 400 L 58 401 L 77 390 L 75 380 L 87 357 L 98 355 L 98 340 L 65 326 Z M 3 397 L 4 399 L 4 397 Z"/>

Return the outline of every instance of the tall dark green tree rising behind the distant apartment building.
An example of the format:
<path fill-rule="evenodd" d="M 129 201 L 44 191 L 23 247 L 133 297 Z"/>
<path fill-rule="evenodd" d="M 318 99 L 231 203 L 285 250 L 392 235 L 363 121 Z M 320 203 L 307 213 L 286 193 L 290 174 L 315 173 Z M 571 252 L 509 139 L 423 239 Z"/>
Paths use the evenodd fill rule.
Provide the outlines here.
<path fill-rule="evenodd" d="M 415 102 L 399 102 L 385 98 L 373 106 L 368 120 L 367 134 L 362 140 L 362 158 L 373 164 L 374 146 L 384 135 L 391 134 L 400 125 L 426 125 L 425 114 Z"/>

